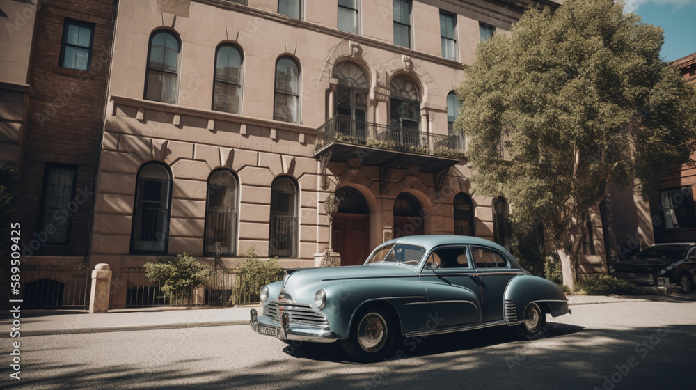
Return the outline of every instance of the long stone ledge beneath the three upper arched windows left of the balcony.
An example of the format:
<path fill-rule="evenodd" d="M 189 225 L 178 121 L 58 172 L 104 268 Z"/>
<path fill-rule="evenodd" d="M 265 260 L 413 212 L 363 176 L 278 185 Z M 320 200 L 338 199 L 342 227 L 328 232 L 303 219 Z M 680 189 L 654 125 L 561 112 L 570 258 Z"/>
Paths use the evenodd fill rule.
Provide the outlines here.
<path fill-rule="evenodd" d="M 119 104 L 122 106 L 136 107 L 139 109 L 149 109 L 153 111 L 163 111 L 175 115 L 194 116 L 198 118 L 207 118 L 208 120 L 223 120 L 225 122 L 242 123 L 246 125 L 253 125 L 259 127 L 269 127 L 275 130 L 286 130 L 290 132 L 299 132 L 304 134 L 317 133 L 317 129 L 315 127 L 297 125 L 295 123 L 280 122 L 278 120 L 254 118 L 252 116 L 230 114 L 222 111 L 184 107 L 177 104 L 155 102 L 152 100 L 126 98 L 125 96 L 111 95 L 109 100 L 114 104 Z"/>

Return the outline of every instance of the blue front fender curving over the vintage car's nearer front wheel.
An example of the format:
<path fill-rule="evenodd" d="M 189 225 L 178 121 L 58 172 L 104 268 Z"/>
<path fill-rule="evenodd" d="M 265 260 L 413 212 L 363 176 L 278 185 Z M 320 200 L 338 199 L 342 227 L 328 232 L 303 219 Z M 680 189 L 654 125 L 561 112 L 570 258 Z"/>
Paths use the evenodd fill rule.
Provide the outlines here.
<path fill-rule="evenodd" d="M 329 327 L 338 338 L 347 338 L 356 312 L 365 304 L 385 302 L 397 313 L 404 334 L 404 322 L 409 322 L 409 311 L 422 305 L 404 306 L 413 302 L 425 302 L 425 288 L 418 279 L 413 283 L 398 279 L 374 279 L 341 281 L 324 287 L 326 307 L 322 313 L 329 320 Z"/>

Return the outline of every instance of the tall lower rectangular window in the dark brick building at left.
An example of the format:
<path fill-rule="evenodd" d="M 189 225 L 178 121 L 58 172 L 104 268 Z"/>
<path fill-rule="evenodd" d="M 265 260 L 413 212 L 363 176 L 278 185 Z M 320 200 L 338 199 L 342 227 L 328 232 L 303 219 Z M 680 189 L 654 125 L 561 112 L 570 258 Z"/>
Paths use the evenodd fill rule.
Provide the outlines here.
<path fill-rule="evenodd" d="M 77 166 L 47 164 L 41 218 L 37 231 L 47 234 L 47 244 L 69 244 Z"/>

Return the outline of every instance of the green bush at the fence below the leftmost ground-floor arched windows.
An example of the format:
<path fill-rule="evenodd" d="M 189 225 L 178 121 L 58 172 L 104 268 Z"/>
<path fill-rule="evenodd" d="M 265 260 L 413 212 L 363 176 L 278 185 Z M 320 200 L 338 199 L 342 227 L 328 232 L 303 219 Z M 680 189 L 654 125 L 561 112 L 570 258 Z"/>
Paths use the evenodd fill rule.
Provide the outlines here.
<path fill-rule="evenodd" d="M 186 252 L 177 254 L 173 260 L 160 260 L 159 263 L 145 263 L 145 276 L 152 282 L 161 284 L 161 291 L 171 302 L 187 299 L 193 289 L 208 280 L 212 267 L 201 264 L 198 259 Z"/>

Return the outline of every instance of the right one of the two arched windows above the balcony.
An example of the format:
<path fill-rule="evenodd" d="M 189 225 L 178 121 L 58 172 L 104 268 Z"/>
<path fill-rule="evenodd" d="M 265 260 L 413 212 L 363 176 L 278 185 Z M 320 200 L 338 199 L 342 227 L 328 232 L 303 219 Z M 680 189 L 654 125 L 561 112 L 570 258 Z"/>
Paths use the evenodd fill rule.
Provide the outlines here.
<path fill-rule="evenodd" d="M 406 75 L 396 75 L 391 81 L 390 124 L 408 130 L 420 128 L 420 93 Z"/>

